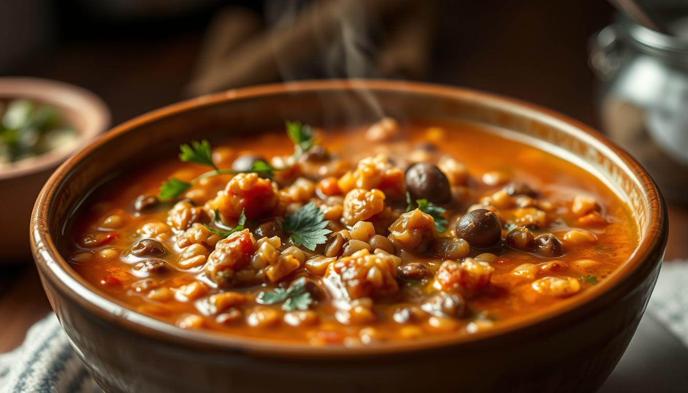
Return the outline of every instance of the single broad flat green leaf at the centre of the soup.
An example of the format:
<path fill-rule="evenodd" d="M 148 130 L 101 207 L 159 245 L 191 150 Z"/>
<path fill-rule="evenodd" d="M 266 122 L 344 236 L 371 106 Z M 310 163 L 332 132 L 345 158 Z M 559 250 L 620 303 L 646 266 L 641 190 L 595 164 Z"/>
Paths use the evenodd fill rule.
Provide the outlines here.
<path fill-rule="evenodd" d="M 325 213 L 314 202 L 308 202 L 294 214 L 284 217 L 283 229 L 292 234 L 289 237 L 292 243 L 314 251 L 318 244 L 327 241 L 325 235 L 332 232 L 325 228 L 330 222 L 324 218 Z"/>

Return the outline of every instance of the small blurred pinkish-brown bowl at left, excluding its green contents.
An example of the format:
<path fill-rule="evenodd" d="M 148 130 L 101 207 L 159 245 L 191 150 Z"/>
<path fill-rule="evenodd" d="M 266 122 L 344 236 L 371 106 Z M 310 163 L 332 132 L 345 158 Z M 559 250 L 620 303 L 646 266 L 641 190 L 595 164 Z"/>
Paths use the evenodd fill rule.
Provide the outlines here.
<path fill-rule="evenodd" d="M 75 149 L 105 131 L 110 114 L 100 98 L 79 87 L 36 78 L 0 78 L 0 100 L 29 98 L 52 105 L 78 131 L 72 146 L 20 160 L 0 168 L 0 264 L 30 260 L 26 237 L 31 210 L 50 173 Z"/>

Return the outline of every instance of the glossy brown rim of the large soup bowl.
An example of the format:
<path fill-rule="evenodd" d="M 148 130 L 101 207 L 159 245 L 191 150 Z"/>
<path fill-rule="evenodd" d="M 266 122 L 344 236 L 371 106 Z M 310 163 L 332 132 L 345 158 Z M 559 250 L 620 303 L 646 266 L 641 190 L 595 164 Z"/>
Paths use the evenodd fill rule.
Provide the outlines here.
<path fill-rule="evenodd" d="M 636 251 L 627 262 L 615 270 L 610 277 L 575 297 L 564 299 L 557 304 L 557 307 L 549 307 L 542 312 L 517 317 L 508 323 L 473 334 L 447 334 L 415 341 L 392 341 L 385 343 L 383 346 L 361 346 L 361 348 L 310 346 L 308 343 L 303 342 L 279 341 L 266 338 L 254 339 L 252 337 L 220 334 L 208 330 L 185 330 L 178 328 L 171 323 L 147 317 L 131 310 L 120 301 L 108 299 L 96 286 L 80 277 L 60 255 L 58 247 L 54 243 L 50 231 L 48 231 L 50 226 L 48 226 L 47 222 L 49 217 L 48 211 L 50 211 L 50 206 L 56 198 L 56 191 L 69 178 L 70 171 L 76 167 L 80 160 L 87 158 L 94 149 L 107 144 L 109 140 L 133 131 L 145 123 L 173 114 L 179 114 L 189 109 L 214 105 L 224 101 L 257 98 L 274 94 L 288 94 L 289 92 L 325 92 L 352 89 L 372 89 L 404 94 L 409 92 L 413 94 L 431 94 L 479 103 L 480 105 L 486 105 L 495 109 L 516 110 L 524 118 L 536 119 L 552 127 L 557 127 L 561 131 L 572 134 L 577 140 L 583 140 L 585 143 L 594 145 L 604 156 L 619 162 L 627 175 L 645 190 L 648 201 L 647 209 L 649 210 L 648 219 L 645 223 L 645 226 L 647 226 L 645 237 L 641 238 Z M 640 223 L 638 223 L 638 226 L 641 229 Z M 36 200 L 30 231 L 32 252 L 36 265 L 39 268 L 39 273 L 41 273 L 43 278 L 43 285 L 47 285 L 47 280 L 50 285 L 56 290 L 61 291 L 73 303 L 120 328 L 125 328 L 137 334 L 143 334 L 158 341 L 167 341 L 175 346 L 192 346 L 196 349 L 206 348 L 212 351 L 250 352 L 270 357 L 315 359 L 323 357 L 341 358 L 398 354 L 399 352 L 439 349 L 447 346 L 471 345 L 488 340 L 503 339 L 508 334 L 525 332 L 528 329 L 544 328 L 547 321 L 584 316 L 596 310 L 595 299 L 601 300 L 604 298 L 610 301 L 612 293 L 616 297 L 626 295 L 630 289 L 623 293 L 620 292 L 622 289 L 634 285 L 634 283 L 630 282 L 632 277 L 636 279 L 638 277 L 644 278 L 660 264 L 667 242 L 668 222 L 666 206 L 662 195 L 645 169 L 623 149 L 614 145 L 614 143 L 601 136 L 597 131 L 576 120 L 537 105 L 472 89 L 429 83 L 366 79 L 299 81 L 230 89 L 226 92 L 184 100 L 133 118 L 90 142 L 53 173 Z M 600 301 L 597 303 L 600 303 Z M 598 304 L 597 306 L 600 305 Z"/>

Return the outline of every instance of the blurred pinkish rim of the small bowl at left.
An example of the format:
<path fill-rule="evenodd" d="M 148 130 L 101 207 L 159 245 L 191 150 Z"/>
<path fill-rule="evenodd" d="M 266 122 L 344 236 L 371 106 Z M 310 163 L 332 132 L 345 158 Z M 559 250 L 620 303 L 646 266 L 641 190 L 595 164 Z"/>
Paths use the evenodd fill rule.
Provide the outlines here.
<path fill-rule="evenodd" d="M 30 173 L 54 168 L 67 156 L 83 147 L 89 140 L 107 129 L 111 114 L 105 102 L 83 87 L 61 81 L 25 76 L 0 77 L 0 98 L 29 98 L 55 105 L 61 111 L 71 110 L 89 119 L 84 127 L 78 128 L 74 149 L 54 149 L 38 156 L 25 158 L 17 164 L 0 169 L 0 180 L 18 178 Z"/>

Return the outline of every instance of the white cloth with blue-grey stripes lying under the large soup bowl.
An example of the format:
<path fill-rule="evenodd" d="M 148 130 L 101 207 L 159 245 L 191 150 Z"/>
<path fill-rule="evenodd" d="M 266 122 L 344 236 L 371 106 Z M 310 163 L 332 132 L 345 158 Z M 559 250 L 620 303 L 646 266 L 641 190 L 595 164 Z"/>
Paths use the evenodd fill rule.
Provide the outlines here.
<path fill-rule="evenodd" d="M 647 309 L 688 346 L 688 261 L 663 264 Z M 2 390 L 5 389 L 5 390 Z M 86 372 L 51 312 L 24 343 L 0 354 L 0 393 L 103 392 Z"/>

